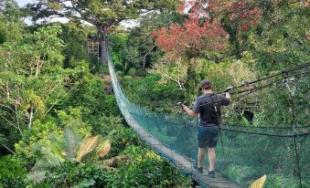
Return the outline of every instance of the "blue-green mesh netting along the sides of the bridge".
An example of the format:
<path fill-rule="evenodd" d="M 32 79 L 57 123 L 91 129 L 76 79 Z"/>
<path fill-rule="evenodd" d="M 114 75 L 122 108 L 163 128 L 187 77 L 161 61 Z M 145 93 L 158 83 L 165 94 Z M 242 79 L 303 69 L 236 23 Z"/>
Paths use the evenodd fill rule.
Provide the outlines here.
<path fill-rule="evenodd" d="M 124 119 L 130 125 L 134 119 L 157 141 L 188 160 L 196 160 L 198 120 L 185 115 L 156 113 L 134 105 L 123 94 L 109 52 L 106 54 L 113 91 Z M 291 128 L 223 125 L 216 148 L 216 171 L 245 187 L 263 174 L 267 175 L 264 187 L 310 187 L 310 138 L 307 132 L 309 128 L 292 131 Z M 160 150 L 157 152 L 161 153 Z M 171 155 L 164 154 L 164 157 L 176 162 Z M 208 159 L 205 162 L 208 166 Z"/>

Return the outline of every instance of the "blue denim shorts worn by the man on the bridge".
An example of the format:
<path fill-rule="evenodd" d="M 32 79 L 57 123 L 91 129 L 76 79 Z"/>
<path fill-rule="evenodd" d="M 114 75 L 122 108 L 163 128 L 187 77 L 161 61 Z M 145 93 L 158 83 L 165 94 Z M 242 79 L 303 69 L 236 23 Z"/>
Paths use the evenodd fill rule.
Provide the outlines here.
<path fill-rule="evenodd" d="M 198 126 L 198 147 L 215 148 L 219 139 L 219 126 Z"/>

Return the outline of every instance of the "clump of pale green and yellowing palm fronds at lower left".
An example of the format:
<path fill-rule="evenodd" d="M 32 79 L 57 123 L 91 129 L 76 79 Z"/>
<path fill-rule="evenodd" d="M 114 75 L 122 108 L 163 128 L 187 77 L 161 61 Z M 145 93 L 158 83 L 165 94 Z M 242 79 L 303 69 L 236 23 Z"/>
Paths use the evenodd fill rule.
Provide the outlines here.
<path fill-rule="evenodd" d="M 74 125 L 69 125 L 63 132 L 48 134 L 45 141 L 38 141 L 34 146 L 37 152 L 37 162 L 32 168 L 28 179 L 34 183 L 44 180 L 44 174 L 62 165 L 65 161 L 94 163 L 104 157 L 111 149 L 110 132 L 106 138 L 99 135 L 81 137 Z"/>

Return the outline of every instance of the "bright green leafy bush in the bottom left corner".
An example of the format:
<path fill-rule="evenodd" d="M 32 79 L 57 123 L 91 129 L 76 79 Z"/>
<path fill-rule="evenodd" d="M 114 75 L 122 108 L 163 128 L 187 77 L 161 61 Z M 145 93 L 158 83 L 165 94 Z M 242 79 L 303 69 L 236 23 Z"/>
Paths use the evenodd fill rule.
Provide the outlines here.
<path fill-rule="evenodd" d="M 25 162 L 20 159 L 7 155 L 0 158 L 0 187 L 19 188 L 27 185 L 27 170 Z"/>

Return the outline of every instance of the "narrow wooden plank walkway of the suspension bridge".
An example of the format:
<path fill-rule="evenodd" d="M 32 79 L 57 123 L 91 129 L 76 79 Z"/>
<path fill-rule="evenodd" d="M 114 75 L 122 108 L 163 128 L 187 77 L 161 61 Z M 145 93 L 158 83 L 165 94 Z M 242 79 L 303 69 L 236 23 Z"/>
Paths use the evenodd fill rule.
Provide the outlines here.
<path fill-rule="evenodd" d="M 115 80 L 115 72 L 112 68 L 111 58 L 108 58 L 108 65 L 110 69 L 110 75 L 112 78 L 112 88 L 114 90 L 114 95 L 116 96 L 117 103 L 120 110 L 122 111 L 124 119 L 127 123 L 134 129 L 134 131 L 143 139 L 149 146 L 152 147 L 154 151 L 160 154 L 168 162 L 172 162 L 178 170 L 183 172 L 186 175 L 190 175 L 201 187 L 206 188 L 240 188 L 235 183 L 229 182 L 227 179 L 217 175 L 216 178 L 209 178 L 207 172 L 198 173 L 192 168 L 192 162 L 189 158 L 184 155 L 179 154 L 178 152 L 168 148 L 166 145 L 162 144 L 160 141 L 157 141 L 152 135 L 137 123 L 133 116 L 126 109 L 126 102 L 122 100 L 121 95 L 117 89 L 117 84 Z"/>

